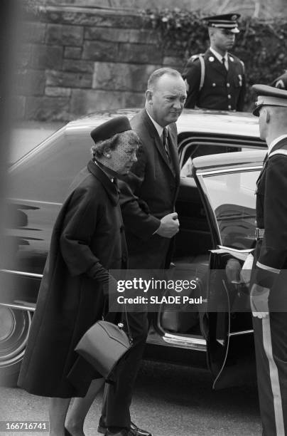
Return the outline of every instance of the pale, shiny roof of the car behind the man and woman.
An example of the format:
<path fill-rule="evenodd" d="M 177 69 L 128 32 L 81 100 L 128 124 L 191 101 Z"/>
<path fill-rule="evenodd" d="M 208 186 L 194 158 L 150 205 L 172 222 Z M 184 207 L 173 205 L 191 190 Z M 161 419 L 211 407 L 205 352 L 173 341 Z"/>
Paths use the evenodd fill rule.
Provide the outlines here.
<path fill-rule="evenodd" d="M 92 130 L 97 125 L 118 115 L 126 115 L 131 119 L 140 110 L 141 108 L 127 108 L 91 113 L 70 121 L 66 128 L 67 130 L 70 128 Z M 197 132 L 259 138 L 258 118 L 251 115 L 251 113 L 184 109 L 176 125 L 179 134 Z"/>

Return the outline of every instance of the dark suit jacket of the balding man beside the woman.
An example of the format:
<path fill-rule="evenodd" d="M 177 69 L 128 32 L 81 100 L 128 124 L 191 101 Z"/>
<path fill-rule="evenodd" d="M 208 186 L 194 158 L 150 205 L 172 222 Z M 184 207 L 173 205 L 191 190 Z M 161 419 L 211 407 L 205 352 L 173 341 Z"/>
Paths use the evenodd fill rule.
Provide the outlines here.
<path fill-rule="evenodd" d="M 161 218 L 175 211 L 180 180 L 176 125 L 168 126 L 170 162 L 145 109 L 132 118 L 131 127 L 139 135 L 141 147 L 137 162 L 120 182 L 129 264 L 134 269 L 161 269 L 168 266 L 170 239 L 154 232 Z"/>

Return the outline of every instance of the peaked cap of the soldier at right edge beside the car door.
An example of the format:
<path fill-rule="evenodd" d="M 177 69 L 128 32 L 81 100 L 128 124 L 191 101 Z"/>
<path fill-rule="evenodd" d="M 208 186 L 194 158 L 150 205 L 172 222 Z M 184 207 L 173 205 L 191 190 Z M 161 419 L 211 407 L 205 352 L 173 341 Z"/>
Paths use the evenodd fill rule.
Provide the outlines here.
<path fill-rule="evenodd" d="M 256 108 L 253 111 L 253 115 L 256 115 L 256 117 L 259 117 L 262 106 L 283 106 L 287 108 L 287 90 L 269 85 L 253 85 L 252 89 L 257 95 Z"/>

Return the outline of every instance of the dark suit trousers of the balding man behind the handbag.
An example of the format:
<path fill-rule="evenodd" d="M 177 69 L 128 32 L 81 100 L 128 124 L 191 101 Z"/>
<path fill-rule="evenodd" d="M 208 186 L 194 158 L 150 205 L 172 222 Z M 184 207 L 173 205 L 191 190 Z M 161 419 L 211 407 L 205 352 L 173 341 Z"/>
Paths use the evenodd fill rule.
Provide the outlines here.
<path fill-rule="evenodd" d="M 117 385 L 106 384 L 100 424 L 105 427 L 126 427 L 131 425 L 129 408 L 134 390 L 136 375 L 139 371 L 141 358 L 148 335 L 148 313 L 128 312 L 127 322 L 133 338 L 133 346 L 125 364 L 119 373 Z M 125 323 L 126 324 L 126 323 Z M 126 326 L 125 326 L 126 329 Z"/>

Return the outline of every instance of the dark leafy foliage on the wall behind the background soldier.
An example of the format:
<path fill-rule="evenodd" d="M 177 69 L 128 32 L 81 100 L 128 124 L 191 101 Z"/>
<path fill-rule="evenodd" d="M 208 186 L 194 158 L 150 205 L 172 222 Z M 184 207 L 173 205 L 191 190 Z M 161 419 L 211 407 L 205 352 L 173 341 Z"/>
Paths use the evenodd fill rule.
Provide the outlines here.
<path fill-rule="evenodd" d="M 142 16 L 144 26 L 158 32 L 163 53 L 183 59 L 183 62 L 178 62 L 180 68 L 192 54 L 202 53 L 208 46 L 207 28 L 200 12 L 146 10 Z M 248 109 L 253 101 L 251 85 L 270 84 L 287 69 L 287 20 L 263 21 L 246 17 L 241 19 L 239 26 L 241 32 L 237 35 L 232 52 L 245 64 Z"/>

